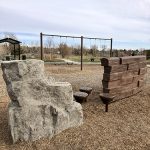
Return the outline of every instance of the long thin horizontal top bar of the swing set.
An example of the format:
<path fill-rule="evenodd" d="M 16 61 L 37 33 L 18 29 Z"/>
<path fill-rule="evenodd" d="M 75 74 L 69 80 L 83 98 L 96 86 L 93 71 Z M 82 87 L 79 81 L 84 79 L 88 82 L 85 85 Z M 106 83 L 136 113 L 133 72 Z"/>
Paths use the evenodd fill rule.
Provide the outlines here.
<path fill-rule="evenodd" d="M 65 35 L 54 35 L 54 34 L 44 34 L 44 33 L 41 33 L 42 35 L 44 35 L 44 36 L 57 36 L 57 37 L 66 37 L 66 38 L 68 38 L 68 37 L 70 37 L 70 38 L 84 38 L 84 39 L 94 39 L 94 40 L 112 40 L 112 38 L 110 38 L 110 39 L 105 39 L 105 38 L 91 38 L 91 37 L 84 37 L 84 36 L 65 36 Z"/>

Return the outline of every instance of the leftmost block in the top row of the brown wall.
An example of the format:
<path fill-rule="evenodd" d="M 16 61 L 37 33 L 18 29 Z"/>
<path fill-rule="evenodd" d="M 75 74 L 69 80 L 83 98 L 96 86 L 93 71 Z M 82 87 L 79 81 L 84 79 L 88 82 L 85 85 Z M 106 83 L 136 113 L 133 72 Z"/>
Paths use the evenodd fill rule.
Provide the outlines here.
<path fill-rule="evenodd" d="M 102 58 L 101 65 L 102 66 L 112 66 L 112 65 L 119 65 L 120 58 L 119 57 L 110 57 L 110 58 Z"/>

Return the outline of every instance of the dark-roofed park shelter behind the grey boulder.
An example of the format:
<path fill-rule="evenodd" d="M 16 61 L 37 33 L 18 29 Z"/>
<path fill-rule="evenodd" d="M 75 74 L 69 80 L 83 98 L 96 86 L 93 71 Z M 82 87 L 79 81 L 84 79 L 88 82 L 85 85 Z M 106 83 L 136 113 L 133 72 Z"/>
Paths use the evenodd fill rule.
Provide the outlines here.
<path fill-rule="evenodd" d="M 14 59 L 16 59 L 16 55 L 18 55 L 19 60 L 20 60 L 20 43 L 21 42 L 12 38 L 4 38 L 0 40 L 0 43 L 4 43 L 4 42 L 8 42 L 14 46 Z M 16 49 L 16 45 L 18 45 L 18 52 Z"/>

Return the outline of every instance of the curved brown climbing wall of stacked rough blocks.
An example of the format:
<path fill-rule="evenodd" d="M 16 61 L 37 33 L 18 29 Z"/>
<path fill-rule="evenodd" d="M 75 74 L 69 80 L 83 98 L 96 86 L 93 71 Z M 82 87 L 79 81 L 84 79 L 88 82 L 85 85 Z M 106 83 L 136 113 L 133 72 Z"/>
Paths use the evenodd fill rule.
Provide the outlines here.
<path fill-rule="evenodd" d="M 102 59 L 104 66 L 103 74 L 103 93 L 104 95 L 114 96 L 114 100 L 129 97 L 142 90 L 144 86 L 146 68 L 146 56 L 128 56 L 120 57 L 120 64 L 115 64 L 116 58 L 113 61 Z"/>

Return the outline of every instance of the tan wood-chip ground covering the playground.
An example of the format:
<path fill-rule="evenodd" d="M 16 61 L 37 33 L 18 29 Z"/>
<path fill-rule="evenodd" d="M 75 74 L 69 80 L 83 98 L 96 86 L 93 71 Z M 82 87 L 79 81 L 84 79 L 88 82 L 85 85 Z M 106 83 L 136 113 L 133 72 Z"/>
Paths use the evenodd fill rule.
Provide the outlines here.
<path fill-rule="evenodd" d="M 9 97 L 0 70 L 0 150 L 150 150 L 150 69 L 143 92 L 109 105 L 104 111 L 99 93 L 103 69 L 100 65 L 45 65 L 47 75 L 68 81 L 73 91 L 80 86 L 93 88 L 82 104 L 84 124 L 70 128 L 51 140 L 12 144 L 7 123 Z"/>

